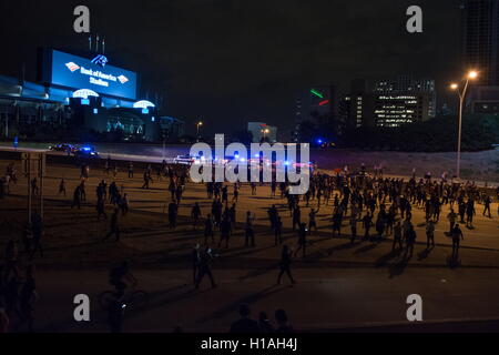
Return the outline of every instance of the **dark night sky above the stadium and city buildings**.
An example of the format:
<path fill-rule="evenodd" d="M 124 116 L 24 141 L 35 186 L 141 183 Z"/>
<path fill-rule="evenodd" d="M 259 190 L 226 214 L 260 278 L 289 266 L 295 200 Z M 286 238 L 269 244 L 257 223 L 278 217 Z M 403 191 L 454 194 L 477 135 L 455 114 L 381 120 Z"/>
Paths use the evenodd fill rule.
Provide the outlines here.
<path fill-rule="evenodd" d="M 161 0 L 0 2 L 1 74 L 35 79 L 37 48 L 86 49 L 73 32 L 73 9 L 91 11 L 110 64 L 141 73 L 142 98 L 161 92 L 163 113 L 191 132 L 231 133 L 248 120 L 286 138 L 303 88 L 400 73 L 437 80 L 458 73 L 459 0 Z M 406 9 L 424 11 L 424 33 L 405 29 Z M 447 93 L 445 94 L 447 95 Z M 439 104 L 447 102 L 439 95 Z M 452 103 L 450 101 L 449 103 Z"/>

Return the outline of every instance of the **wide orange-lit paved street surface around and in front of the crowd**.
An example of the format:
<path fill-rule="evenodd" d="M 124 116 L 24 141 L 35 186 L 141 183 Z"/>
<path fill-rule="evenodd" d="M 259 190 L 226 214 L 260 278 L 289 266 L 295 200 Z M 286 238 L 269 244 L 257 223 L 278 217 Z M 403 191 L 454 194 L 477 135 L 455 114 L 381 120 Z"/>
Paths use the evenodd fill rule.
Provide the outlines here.
<path fill-rule="evenodd" d="M 8 161 L 0 161 L 0 171 Z M 19 163 L 18 163 L 19 164 Z M 18 166 L 19 170 L 19 166 Z M 448 223 L 445 215 L 436 230 L 436 247 L 426 250 L 422 212 L 414 211 L 417 231 L 415 255 L 408 262 L 403 253 L 391 252 L 391 240 L 349 242 L 348 234 L 330 237 L 332 206 L 322 206 L 318 213 L 319 231 L 309 240 L 312 245 L 305 258 L 293 263 L 298 281 L 293 287 L 288 281 L 275 285 L 281 250 L 274 246 L 269 233 L 266 209 L 275 203 L 281 210 L 285 241 L 296 245 L 291 231 L 291 219 L 284 200 L 269 199 L 267 186 L 258 187 L 251 196 L 244 186 L 237 209 L 237 221 L 247 210 L 256 213 L 256 247 L 244 247 L 244 231 L 236 230 L 228 250 L 218 250 L 214 262 L 214 276 L 218 288 L 210 290 L 205 280 L 200 292 L 193 292 L 190 268 L 191 250 L 202 242 L 202 231 L 187 219 L 194 202 L 200 202 L 203 215 L 210 201 L 203 185 L 187 184 L 180 209 L 181 223 L 176 231 L 166 227 L 163 214 L 170 202 L 166 181 L 155 182 L 151 190 L 142 190 L 141 171 L 129 180 L 124 172 L 116 178 L 130 194 L 132 212 L 122 220 L 122 242 L 100 242 L 108 222 L 96 222 L 96 184 L 111 176 L 93 168 L 86 183 L 88 201 L 81 211 L 71 210 L 72 191 L 79 183 L 79 170 L 68 165 L 48 168 L 45 180 L 47 237 L 43 258 L 37 258 L 40 300 L 37 304 L 35 327 L 41 332 L 106 331 L 105 316 L 99 310 L 96 296 L 108 290 L 109 268 L 123 257 L 132 260 L 140 281 L 139 287 L 150 294 L 150 305 L 140 313 L 130 312 L 128 331 L 170 332 L 180 325 L 185 331 L 226 331 L 236 317 L 238 304 L 248 303 L 254 316 L 259 311 L 269 315 L 285 308 L 295 327 L 301 329 L 345 329 L 371 326 L 400 327 L 406 321 L 406 297 L 420 294 L 424 300 L 424 320 L 458 324 L 468 321 L 499 320 L 499 233 L 497 203 L 493 217 L 481 215 L 477 205 L 473 230 L 464 229 L 459 265 L 449 266 L 450 240 L 444 234 Z M 61 176 L 68 183 L 68 195 L 59 196 L 57 187 Z M 12 196 L 0 201 L 0 214 L 8 221 L 21 221 L 26 206 L 26 180 L 12 187 Z M 232 189 L 230 189 L 232 195 Z M 231 197 L 230 197 L 231 199 Z M 243 209 L 244 206 L 244 209 Z M 308 215 L 303 209 L 302 215 Z M 110 207 L 108 213 L 110 213 Z M 305 217 L 308 220 L 308 217 Z M 344 222 L 344 233 L 347 231 Z M 361 230 L 360 230 L 361 231 Z M 2 233 L 6 239 L 19 239 L 12 227 Z M 218 240 L 218 233 L 215 232 Z M 214 245 L 216 247 L 216 245 Z M 89 294 L 92 300 L 92 322 L 78 324 L 72 318 L 72 297 Z"/>

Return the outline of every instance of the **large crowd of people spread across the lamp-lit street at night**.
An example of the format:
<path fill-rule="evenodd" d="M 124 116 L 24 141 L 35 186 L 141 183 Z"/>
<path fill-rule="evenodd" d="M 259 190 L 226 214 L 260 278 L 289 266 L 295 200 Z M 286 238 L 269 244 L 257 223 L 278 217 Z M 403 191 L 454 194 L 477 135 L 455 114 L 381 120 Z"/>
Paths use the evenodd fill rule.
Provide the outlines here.
<path fill-rule="evenodd" d="M 135 166 L 132 162 L 126 165 L 129 180 L 134 179 Z M 129 193 L 125 183 L 119 186 L 116 178 L 119 175 L 118 165 L 108 159 L 104 161 L 105 178 L 100 181 L 95 189 L 96 217 L 109 220 L 109 231 L 102 241 L 114 236 L 119 242 L 121 237 L 121 222 L 130 210 Z M 112 176 L 111 176 L 112 175 Z M 9 164 L 7 170 L 8 180 L 17 182 L 13 164 Z M 163 161 L 156 165 L 156 176 L 153 179 L 153 168 L 147 164 L 143 170 L 142 190 L 149 190 L 154 181 L 165 181 L 167 197 L 163 212 L 167 215 L 169 229 L 175 230 L 179 225 L 179 209 L 183 204 L 183 195 L 190 181 L 189 169 L 185 165 L 172 166 Z M 71 207 L 80 210 L 82 203 L 86 201 L 86 185 L 90 179 L 90 166 L 81 165 L 80 182 L 74 187 Z M 108 184 L 106 179 L 113 181 Z M 6 186 L 6 183 L 1 184 Z M 248 183 L 251 196 L 257 194 L 257 190 L 265 184 Z M 9 184 L 7 184 L 9 186 Z M 310 176 L 309 190 L 304 195 L 289 193 L 289 183 L 269 183 L 268 207 L 266 217 L 268 227 L 265 234 L 272 236 L 275 247 L 278 247 L 279 262 L 276 271 L 276 284 L 281 284 L 286 275 L 292 284 L 296 280 L 292 274 L 293 260 L 307 256 L 308 246 L 313 243 L 313 236 L 326 234 L 332 239 L 347 239 L 350 243 L 361 243 L 364 241 L 379 242 L 393 239 L 391 251 L 403 252 L 404 260 L 413 257 L 416 241 L 421 236 L 417 235 L 416 226 L 424 226 L 426 234 L 426 247 L 435 247 L 436 226 L 439 223 L 446 224 L 446 236 L 452 241 L 451 260 L 457 260 L 459 255 L 460 242 L 465 239 L 464 229 L 476 227 L 475 216 L 481 213 L 488 219 L 492 219 L 495 211 L 491 211 L 492 201 L 499 197 L 499 187 L 492 193 L 491 189 L 478 187 L 473 182 L 455 182 L 441 179 L 431 179 L 429 173 L 417 179 L 415 172 L 410 179 L 386 178 L 380 169 L 376 169 L 374 174 L 368 174 L 363 165 L 359 171 L 349 173 L 347 169 L 343 172 L 323 173 L 314 172 Z M 0 191 L 0 197 L 6 193 L 6 189 Z M 33 193 L 38 193 L 37 181 L 31 181 Z M 193 280 L 195 288 L 198 288 L 202 281 L 207 276 L 212 287 L 217 287 L 211 264 L 218 256 L 215 250 L 228 248 L 231 237 L 236 230 L 242 229 L 244 233 L 244 246 L 252 248 L 257 244 L 255 237 L 254 211 L 245 209 L 242 212 L 243 221 L 237 221 L 238 207 L 245 207 L 242 202 L 243 184 L 206 182 L 206 199 L 211 201 L 211 206 L 203 211 L 204 204 L 200 196 L 198 201 L 185 203 L 184 206 L 191 209 L 190 224 L 193 233 L 198 234 L 201 225 L 202 237 L 192 253 Z M 8 190 L 7 190 L 8 191 Z M 265 190 L 266 191 L 266 190 Z M 67 181 L 59 182 L 58 194 L 65 196 Z M 481 209 L 479 210 L 479 205 Z M 106 209 L 112 207 L 112 214 L 108 217 Z M 422 212 L 422 220 L 415 221 L 414 212 Z M 289 224 L 285 225 L 285 215 L 289 215 Z M 499 211 L 497 211 L 499 213 Z M 325 219 L 319 220 L 319 216 Z M 444 220 L 444 222 L 442 222 Z M 294 231 L 296 237 L 283 239 L 284 230 Z M 43 256 L 41 239 L 43 224 L 37 214 L 33 214 L 31 223 L 24 227 L 24 248 L 28 261 L 32 261 L 35 253 Z M 277 255 L 277 253 L 276 253 Z M 6 251 L 6 262 L 1 271 L 0 283 L 0 320 L 18 317 L 20 324 L 27 323 L 32 327 L 32 302 L 35 295 L 34 266 L 28 264 L 24 275 L 18 267 L 18 252 L 13 241 L 8 243 Z M 16 285 L 16 286 L 14 286 Z M 14 291 L 16 288 L 16 291 Z M 121 290 L 120 292 L 124 292 Z M 28 297 L 29 295 L 29 297 Z M 29 300 L 29 301 L 28 301 Z M 241 311 L 241 310 L 240 310 Z M 284 312 L 284 311 L 283 311 Z M 279 312 L 276 321 L 278 328 L 285 329 L 287 316 Z M 273 328 L 266 315 L 261 314 L 261 322 L 248 320 L 248 310 L 242 308 L 240 312 L 242 321 L 233 325 L 232 332 L 237 332 L 242 326 Z M 286 320 L 286 321 L 285 321 Z M 2 321 L 2 324 L 4 321 Z M 257 325 L 255 326 L 255 323 Z M 251 325 L 252 324 L 252 325 Z"/>

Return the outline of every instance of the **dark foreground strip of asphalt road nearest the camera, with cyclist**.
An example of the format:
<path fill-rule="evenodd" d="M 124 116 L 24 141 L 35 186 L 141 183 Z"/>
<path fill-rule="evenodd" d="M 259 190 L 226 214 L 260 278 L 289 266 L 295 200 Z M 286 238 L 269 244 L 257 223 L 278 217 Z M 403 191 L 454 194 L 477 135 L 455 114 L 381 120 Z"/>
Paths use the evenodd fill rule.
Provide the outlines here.
<path fill-rule="evenodd" d="M 135 271 L 140 287 L 150 293 L 150 305 L 126 314 L 125 329 L 171 332 L 181 326 L 185 332 L 226 332 L 237 320 L 238 305 L 247 303 L 255 317 L 261 311 L 272 315 L 284 308 L 294 327 L 305 332 L 497 331 L 498 270 L 408 267 L 390 278 L 376 268 L 296 268 L 294 286 L 285 278 L 276 286 L 276 273 L 215 268 L 218 287 L 210 288 L 206 280 L 195 292 L 187 284 L 187 270 Z M 105 274 L 98 272 L 40 274 L 38 331 L 105 332 L 105 313 L 98 306 L 99 293 L 108 288 L 105 280 Z M 72 298 L 81 293 L 91 297 L 90 323 L 72 317 Z M 410 294 L 422 297 L 422 322 L 407 321 Z"/>

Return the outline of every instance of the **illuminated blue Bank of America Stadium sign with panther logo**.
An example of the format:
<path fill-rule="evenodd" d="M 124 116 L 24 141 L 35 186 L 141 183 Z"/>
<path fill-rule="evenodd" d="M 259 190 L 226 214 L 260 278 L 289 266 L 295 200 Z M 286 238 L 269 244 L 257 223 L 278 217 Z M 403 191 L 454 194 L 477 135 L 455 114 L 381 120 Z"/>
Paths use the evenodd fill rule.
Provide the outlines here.
<path fill-rule="evenodd" d="M 90 60 L 52 50 L 50 83 L 77 90 L 90 89 L 104 95 L 136 100 L 136 73 L 105 65 L 106 62 L 105 57 L 98 55 Z"/>

